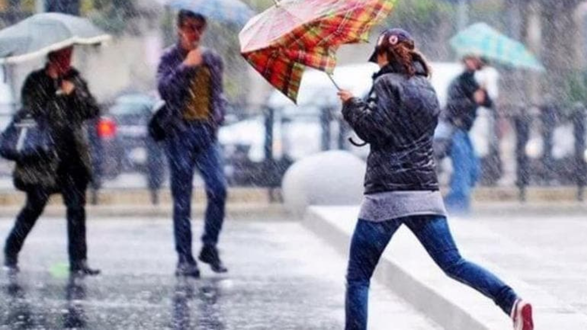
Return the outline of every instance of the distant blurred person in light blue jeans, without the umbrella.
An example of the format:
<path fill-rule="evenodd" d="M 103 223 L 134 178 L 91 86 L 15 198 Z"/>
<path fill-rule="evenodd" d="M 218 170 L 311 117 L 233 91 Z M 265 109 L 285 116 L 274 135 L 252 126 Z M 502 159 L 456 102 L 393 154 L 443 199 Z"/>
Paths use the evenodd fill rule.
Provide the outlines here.
<path fill-rule="evenodd" d="M 465 56 L 463 63 L 465 70 L 448 87 L 446 109 L 441 115 L 443 122 L 452 127 L 448 156 L 453 163 L 453 174 L 445 202 L 448 211 L 456 214 L 470 211 L 471 191 L 480 171 L 469 132 L 477 118 L 478 107 L 490 108 L 493 104 L 487 90 L 475 80 L 475 72 L 483 68 L 484 60 Z"/>

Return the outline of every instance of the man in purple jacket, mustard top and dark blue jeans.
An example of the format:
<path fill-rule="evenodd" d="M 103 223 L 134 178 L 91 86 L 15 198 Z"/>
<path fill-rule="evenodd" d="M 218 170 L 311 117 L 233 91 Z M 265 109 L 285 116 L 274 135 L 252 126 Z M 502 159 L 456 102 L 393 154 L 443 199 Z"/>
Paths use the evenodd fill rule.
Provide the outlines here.
<path fill-rule="evenodd" d="M 191 248 L 191 196 L 194 171 L 204 179 L 208 206 L 199 259 L 214 272 L 226 272 L 218 255 L 218 235 L 224 221 L 227 184 L 218 126 L 224 120 L 222 59 L 200 45 L 206 28 L 203 15 L 180 11 L 178 37 L 161 56 L 157 85 L 166 102 L 166 149 L 171 172 L 173 229 L 178 253 L 176 275 L 198 278 Z"/>

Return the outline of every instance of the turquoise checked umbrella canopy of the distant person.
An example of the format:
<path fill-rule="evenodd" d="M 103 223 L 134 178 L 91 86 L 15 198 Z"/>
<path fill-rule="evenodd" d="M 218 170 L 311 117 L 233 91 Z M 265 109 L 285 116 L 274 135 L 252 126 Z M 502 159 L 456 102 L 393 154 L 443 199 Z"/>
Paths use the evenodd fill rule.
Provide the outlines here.
<path fill-rule="evenodd" d="M 475 23 L 450 39 L 459 56 L 478 55 L 514 68 L 543 71 L 544 66 L 522 43 L 502 35 L 485 23 Z"/>

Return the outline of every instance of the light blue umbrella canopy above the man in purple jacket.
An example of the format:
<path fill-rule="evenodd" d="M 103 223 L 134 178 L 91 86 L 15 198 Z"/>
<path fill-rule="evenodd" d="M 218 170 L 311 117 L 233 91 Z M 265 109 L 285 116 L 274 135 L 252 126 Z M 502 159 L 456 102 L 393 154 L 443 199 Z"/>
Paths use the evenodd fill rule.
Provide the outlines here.
<path fill-rule="evenodd" d="M 255 15 L 249 6 L 239 0 L 162 0 L 174 9 L 185 9 L 224 23 L 244 25 Z"/>

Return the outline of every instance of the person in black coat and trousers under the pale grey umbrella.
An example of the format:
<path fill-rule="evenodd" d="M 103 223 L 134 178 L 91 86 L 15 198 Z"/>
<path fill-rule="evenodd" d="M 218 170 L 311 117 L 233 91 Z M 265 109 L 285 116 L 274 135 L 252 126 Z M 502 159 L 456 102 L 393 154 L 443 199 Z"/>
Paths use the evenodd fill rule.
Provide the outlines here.
<path fill-rule="evenodd" d="M 55 140 L 55 157 L 17 161 L 16 188 L 26 192 L 26 204 L 6 239 L 4 264 L 18 271 L 18 253 L 53 193 L 67 207 L 69 268 L 73 274 L 96 275 L 87 265 L 86 188 L 92 178 L 84 122 L 100 110 L 85 80 L 71 66 L 73 48 L 51 52 L 45 68 L 32 72 L 22 87 L 23 111 L 46 120 Z"/>

